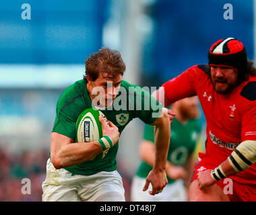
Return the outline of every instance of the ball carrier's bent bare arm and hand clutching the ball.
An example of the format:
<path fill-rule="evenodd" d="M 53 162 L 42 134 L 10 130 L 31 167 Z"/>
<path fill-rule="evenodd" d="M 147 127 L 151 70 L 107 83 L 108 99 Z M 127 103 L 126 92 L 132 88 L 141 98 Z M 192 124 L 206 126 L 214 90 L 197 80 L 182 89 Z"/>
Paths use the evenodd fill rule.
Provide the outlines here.
<path fill-rule="evenodd" d="M 103 118 L 99 118 L 102 123 L 103 136 L 110 138 L 115 145 L 119 139 L 118 128 L 110 121 L 108 126 Z M 51 135 L 51 161 L 56 169 L 77 165 L 88 161 L 102 152 L 102 147 L 98 140 L 91 142 L 74 142 L 71 138 L 53 132 Z"/>

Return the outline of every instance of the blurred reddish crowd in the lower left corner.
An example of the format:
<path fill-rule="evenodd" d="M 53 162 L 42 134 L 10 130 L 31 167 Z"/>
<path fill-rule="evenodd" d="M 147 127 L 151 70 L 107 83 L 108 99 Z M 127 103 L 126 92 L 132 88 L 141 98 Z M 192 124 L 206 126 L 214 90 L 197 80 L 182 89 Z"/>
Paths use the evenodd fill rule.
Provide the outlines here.
<path fill-rule="evenodd" d="M 0 148 L 0 202 L 41 201 L 48 158 L 49 150 L 10 153 Z"/>

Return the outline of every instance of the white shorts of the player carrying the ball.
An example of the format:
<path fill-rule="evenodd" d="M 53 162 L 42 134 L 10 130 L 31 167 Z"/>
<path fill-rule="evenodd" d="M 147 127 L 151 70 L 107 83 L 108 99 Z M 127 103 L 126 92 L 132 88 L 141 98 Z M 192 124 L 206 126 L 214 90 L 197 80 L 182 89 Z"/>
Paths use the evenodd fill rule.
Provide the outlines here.
<path fill-rule="evenodd" d="M 125 202 L 123 181 L 117 171 L 72 175 L 65 169 L 55 169 L 50 159 L 42 191 L 43 202 Z"/>

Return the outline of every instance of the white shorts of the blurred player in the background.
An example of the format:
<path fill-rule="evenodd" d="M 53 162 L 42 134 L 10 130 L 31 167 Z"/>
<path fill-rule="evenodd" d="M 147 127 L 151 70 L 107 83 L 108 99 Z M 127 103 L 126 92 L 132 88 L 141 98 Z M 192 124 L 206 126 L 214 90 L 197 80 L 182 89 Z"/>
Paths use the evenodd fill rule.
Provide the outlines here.
<path fill-rule="evenodd" d="M 187 202 L 187 192 L 182 179 L 168 183 L 161 193 L 154 196 L 148 193 L 152 190 L 151 183 L 146 191 L 142 191 L 145 183 L 145 178 L 136 175 L 133 177 L 131 183 L 132 202 Z"/>

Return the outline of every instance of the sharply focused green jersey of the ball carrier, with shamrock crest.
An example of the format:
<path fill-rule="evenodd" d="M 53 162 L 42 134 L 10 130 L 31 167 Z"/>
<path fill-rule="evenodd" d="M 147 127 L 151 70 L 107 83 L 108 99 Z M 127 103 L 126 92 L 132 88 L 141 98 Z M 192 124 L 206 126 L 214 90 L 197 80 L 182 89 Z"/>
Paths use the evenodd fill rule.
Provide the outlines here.
<path fill-rule="evenodd" d="M 150 105 L 148 105 L 150 103 Z M 88 95 L 86 81 L 79 80 L 69 86 L 57 102 L 57 114 L 53 132 L 63 134 L 75 140 L 75 124 L 79 114 L 92 107 Z M 114 108 L 118 107 L 118 108 Z M 133 118 L 140 118 L 146 124 L 152 124 L 159 116 L 162 105 L 141 87 L 121 82 L 121 87 L 110 110 L 100 110 L 108 120 L 123 131 Z M 158 114 L 159 113 L 159 114 Z M 100 171 L 115 171 L 117 169 L 117 150 L 115 144 L 100 161 L 85 161 L 78 165 L 65 168 L 73 174 L 92 175 Z"/>

